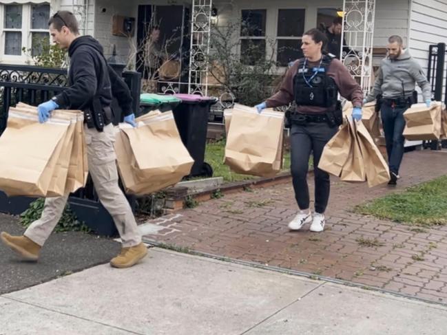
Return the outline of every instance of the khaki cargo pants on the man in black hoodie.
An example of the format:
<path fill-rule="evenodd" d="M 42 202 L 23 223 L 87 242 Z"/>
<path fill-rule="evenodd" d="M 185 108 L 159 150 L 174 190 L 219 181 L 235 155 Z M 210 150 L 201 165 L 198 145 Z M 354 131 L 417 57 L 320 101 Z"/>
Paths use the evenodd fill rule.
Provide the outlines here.
<path fill-rule="evenodd" d="M 88 129 L 84 125 L 85 143 L 87 144 L 88 168 L 99 200 L 114 219 L 123 247 L 136 246 L 141 243 L 135 217 L 129 202 L 118 186 L 116 154 L 114 149 L 114 127 L 104 127 L 104 131 Z M 54 227 L 61 219 L 68 195 L 48 197 L 40 219 L 34 221 L 24 235 L 43 246 Z"/>

